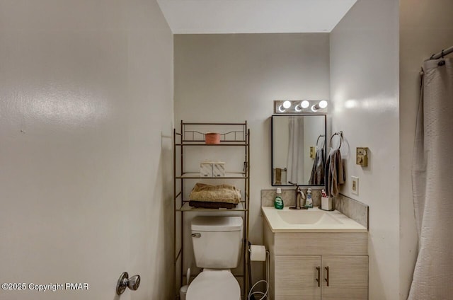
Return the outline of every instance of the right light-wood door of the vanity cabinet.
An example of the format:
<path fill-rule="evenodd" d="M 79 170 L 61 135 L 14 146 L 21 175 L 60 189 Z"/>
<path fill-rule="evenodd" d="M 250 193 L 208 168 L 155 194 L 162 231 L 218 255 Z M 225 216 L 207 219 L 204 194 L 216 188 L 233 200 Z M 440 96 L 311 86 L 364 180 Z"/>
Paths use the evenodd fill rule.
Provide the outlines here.
<path fill-rule="evenodd" d="M 321 260 L 323 300 L 368 299 L 368 255 L 323 255 Z"/>

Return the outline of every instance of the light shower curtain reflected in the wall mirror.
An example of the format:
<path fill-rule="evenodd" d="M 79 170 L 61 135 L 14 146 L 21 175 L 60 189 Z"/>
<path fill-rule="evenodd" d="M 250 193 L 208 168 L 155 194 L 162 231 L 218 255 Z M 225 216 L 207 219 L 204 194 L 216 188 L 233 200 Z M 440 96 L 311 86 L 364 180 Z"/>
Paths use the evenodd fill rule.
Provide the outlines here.
<path fill-rule="evenodd" d="M 304 118 L 289 117 L 287 180 L 299 185 L 304 182 Z"/>

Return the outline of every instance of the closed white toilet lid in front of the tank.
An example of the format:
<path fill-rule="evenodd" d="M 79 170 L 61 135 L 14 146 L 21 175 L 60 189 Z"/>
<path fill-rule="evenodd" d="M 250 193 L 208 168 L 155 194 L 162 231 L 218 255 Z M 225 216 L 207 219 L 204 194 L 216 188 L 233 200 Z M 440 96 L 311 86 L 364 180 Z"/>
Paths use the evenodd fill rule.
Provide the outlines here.
<path fill-rule="evenodd" d="M 228 270 L 204 270 L 189 285 L 186 300 L 238 300 L 241 288 Z"/>

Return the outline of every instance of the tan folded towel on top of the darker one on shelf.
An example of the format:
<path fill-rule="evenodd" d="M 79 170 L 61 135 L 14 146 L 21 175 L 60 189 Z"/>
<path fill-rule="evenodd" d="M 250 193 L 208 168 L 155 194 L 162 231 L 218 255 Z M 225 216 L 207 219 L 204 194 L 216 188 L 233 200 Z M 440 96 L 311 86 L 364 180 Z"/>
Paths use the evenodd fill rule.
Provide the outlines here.
<path fill-rule="evenodd" d="M 238 204 L 241 202 L 241 192 L 233 185 L 196 183 L 190 192 L 189 200 Z"/>

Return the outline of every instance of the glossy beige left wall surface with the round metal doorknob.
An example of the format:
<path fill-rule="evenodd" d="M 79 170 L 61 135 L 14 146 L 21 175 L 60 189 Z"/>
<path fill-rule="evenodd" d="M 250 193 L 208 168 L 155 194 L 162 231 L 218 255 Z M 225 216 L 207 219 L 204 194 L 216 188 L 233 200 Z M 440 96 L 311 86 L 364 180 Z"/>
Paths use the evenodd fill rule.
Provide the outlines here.
<path fill-rule="evenodd" d="M 0 1 L 0 299 L 171 299 L 173 37 L 156 1 Z M 168 137 L 170 138 L 168 138 Z M 133 295 L 133 296 L 131 296 Z"/>

